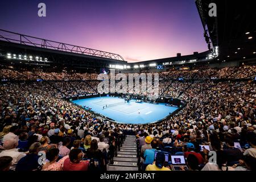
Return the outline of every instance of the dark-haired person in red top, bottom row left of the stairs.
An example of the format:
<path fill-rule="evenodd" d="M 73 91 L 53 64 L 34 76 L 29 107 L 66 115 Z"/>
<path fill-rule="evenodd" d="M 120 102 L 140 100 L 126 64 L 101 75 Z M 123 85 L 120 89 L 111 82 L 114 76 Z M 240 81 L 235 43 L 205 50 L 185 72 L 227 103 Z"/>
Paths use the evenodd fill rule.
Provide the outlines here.
<path fill-rule="evenodd" d="M 64 161 L 63 171 L 87 171 L 89 160 L 82 160 L 83 155 L 79 148 L 71 150 L 69 158 Z"/>

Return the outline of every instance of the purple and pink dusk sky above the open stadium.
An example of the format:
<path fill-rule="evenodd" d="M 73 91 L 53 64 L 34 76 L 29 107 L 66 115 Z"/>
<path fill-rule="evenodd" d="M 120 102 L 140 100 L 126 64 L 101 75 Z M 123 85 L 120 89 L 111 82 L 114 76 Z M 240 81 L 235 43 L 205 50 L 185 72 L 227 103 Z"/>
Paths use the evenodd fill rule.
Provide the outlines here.
<path fill-rule="evenodd" d="M 0 1 L 0 28 L 118 53 L 129 62 L 207 50 L 194 0 Z"/>

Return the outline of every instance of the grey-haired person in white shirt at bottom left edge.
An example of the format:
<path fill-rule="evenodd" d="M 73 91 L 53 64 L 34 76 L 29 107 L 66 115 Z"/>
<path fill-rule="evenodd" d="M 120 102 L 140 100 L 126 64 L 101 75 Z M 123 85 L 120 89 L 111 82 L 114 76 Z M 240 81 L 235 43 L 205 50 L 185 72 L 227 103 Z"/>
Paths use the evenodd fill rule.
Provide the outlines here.
<path fill-rule="evenodd" d="M 24 152 L 19 152 L 18 148 L 18 141 L 15 139 L 8 139 L 5 140 L 3 143 L 3 150 L 0 152 L 0 157 L 2 156 L 11 156 L 13 158 L 13 161 L 11 162 L 10 169 L 15 170 L 16 164 L 19 162 L 20 159 L 22 159 L 26 154 Z"/>

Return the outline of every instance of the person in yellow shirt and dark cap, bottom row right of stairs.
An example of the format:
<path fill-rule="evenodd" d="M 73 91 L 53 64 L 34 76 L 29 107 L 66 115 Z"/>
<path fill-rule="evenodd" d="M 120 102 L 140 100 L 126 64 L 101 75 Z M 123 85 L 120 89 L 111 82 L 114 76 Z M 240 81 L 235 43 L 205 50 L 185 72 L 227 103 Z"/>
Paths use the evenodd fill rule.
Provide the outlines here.
<path fill-rule="evenodd" d="M 146 171 L 171 171 L 170 168 L 164 167 L 165 155 L 163 152 L 158 152 L 156 154 L 155 162 L 153 164 L 148 164 Z"/>

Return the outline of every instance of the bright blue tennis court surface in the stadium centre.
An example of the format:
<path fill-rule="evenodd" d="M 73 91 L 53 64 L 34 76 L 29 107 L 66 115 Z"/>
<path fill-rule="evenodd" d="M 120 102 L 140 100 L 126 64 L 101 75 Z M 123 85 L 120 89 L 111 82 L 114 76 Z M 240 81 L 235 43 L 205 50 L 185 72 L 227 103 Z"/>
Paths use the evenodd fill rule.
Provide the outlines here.
<path fill-rule="evenodd" d="M 156 122 L 178 109 L 177 107 L 166 106 L 163 103 L 137 103 L 135 100 L 125 102 L 125 100 L 118 97 L 94 97 L 72 102 L 90 107 L 92 111 L 105 115 L 114 121 L 131 124 Z M 103 106 L 105 109 L 103 109 Z"/>

